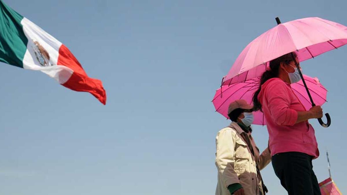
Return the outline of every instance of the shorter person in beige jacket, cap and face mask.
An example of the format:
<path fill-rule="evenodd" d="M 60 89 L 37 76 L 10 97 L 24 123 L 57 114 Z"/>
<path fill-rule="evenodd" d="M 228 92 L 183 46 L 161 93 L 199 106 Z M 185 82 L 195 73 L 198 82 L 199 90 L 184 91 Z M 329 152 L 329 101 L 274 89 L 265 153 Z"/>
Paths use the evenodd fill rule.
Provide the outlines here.
<path fill-rule="evenodd" d="M 271 161 L 266 148 L 261 155 L 251 135 L 252 106 L 245 100 L 229 105 L 231 124 L 221 129 L 216 137 L 218 184 L 216 195 L 265 195 L 260 170 Z"/>

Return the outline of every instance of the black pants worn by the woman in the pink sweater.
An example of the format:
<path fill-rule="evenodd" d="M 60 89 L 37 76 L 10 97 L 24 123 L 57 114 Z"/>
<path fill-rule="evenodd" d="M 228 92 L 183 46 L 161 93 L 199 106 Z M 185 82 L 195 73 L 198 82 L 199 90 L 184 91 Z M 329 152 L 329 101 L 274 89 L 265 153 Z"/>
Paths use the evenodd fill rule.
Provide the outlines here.
<path fill-rule="evenodd" d="M 301 152 L 284 152 L 273 155 L 271 162 L 289 195 L 321 195 L 312 169 L 312 156 Z"/>

